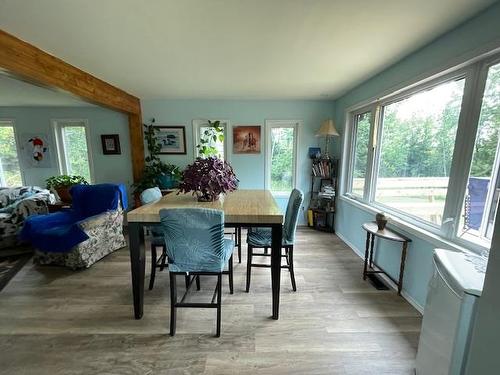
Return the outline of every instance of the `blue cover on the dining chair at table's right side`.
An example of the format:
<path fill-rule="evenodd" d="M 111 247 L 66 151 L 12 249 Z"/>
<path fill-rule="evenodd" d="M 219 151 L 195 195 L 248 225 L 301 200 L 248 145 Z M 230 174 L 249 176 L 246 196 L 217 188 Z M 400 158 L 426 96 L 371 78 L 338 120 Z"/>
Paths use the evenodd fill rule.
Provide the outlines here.
<path fill-rule="evenodd" d="M 303 201 L 304 193 L 299 189 L 293 189 L 286 207 L 282 246 L 293 245 L 295 242 L 300 206 Z M 257 228 L 250 230 L 247 242 L 254 247 L 271 247 L 271 229 Z"/>

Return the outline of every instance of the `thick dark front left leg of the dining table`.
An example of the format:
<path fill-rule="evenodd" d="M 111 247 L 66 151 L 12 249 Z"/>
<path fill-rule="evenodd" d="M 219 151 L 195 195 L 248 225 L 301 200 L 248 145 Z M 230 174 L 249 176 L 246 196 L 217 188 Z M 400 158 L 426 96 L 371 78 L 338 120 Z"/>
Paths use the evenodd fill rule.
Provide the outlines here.
<path fill-rule="evenodd" d="M 132 291 L 134 294 L 134 315 L 136 319 L 141 319 L 144 307 L 144 273 L 146 267 L 144 231 L 140 223 L 129 223 L 128 231 Z"/>

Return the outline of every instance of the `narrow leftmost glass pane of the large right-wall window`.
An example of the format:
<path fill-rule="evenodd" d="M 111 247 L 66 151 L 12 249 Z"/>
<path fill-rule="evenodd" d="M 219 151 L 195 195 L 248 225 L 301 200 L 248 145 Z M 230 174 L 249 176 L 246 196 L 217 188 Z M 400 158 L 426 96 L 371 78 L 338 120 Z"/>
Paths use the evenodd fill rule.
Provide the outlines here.
<path fill-rule="evenodd" d="M 365 188 L 366 163 L 370 142 L 371 112 L 354 116 L 354 168 L 352 173 L 352 193 L 363 195 Z"/>

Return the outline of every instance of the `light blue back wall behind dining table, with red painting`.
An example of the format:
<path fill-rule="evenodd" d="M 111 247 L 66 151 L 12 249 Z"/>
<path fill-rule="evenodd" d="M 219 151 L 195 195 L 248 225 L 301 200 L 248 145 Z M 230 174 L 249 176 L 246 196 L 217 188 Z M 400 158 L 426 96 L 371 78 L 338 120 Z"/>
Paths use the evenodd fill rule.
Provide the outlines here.
<path fill-rule="evenodd" d="M 306 196 L 310 191 L 309 147 L 324 146 L 324 139 L 315 137 L 321 122 L 334 115 L 331 101 L 273 101 L 273 100 L 145 100 L 142 102 L 144 122 L 156 119 L 157 125 L 183 125 L 186 127 L 187 155 L 163 156 L 163 160 L 186 166 L 194 160 L 194 119 L 228 120 L 236 125 L 261 125 L 261 153 L 235 155 L 232 153 L 232 131 L 227 133 L 228 160 L 240 180 L 242 189 L 264 188 L 265 120 L 302 120 L 299 129 L 297 185 Z M 278 199 L 284 210 L 287 199 Z M 304 204 L 307 207 L 307 201 Z M 301 222 L 304 217 L 301 215 Z"/>

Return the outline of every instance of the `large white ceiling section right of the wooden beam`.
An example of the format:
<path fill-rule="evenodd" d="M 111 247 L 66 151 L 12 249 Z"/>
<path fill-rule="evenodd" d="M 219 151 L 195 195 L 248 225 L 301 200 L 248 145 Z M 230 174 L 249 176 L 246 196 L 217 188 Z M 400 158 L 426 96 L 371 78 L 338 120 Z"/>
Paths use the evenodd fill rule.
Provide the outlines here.
<path fill-rule="evenodd" d="M 0 28 L 141 99 L 325 99 L 493 2 L 0 0 Z"/>

